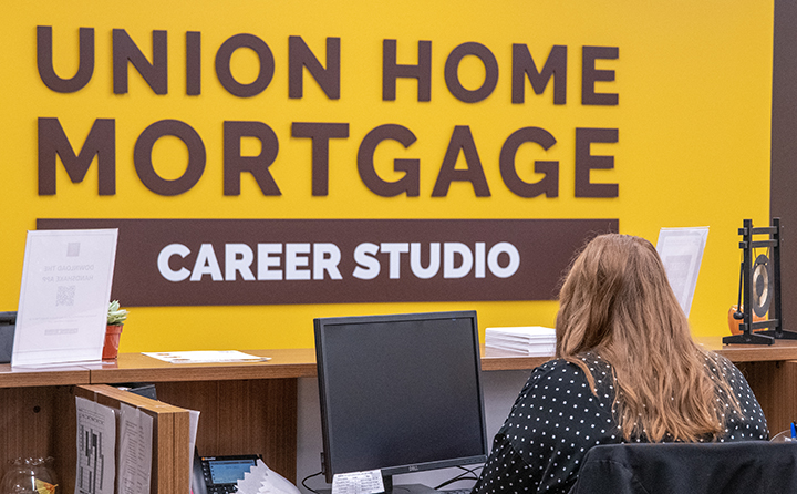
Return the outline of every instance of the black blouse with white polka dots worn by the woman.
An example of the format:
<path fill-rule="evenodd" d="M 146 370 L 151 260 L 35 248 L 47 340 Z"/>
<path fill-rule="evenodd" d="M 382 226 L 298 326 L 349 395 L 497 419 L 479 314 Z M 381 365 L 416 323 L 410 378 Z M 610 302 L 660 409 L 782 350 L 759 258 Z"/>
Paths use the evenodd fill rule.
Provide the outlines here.
<path fill-rule="evenodd" d="M 474 494 L 567 493 L 587 450 L 624 442 L 612 416 L 611 367 L 594 353 L 581 359 L 592 372 L 597 395 L 581 369 L 570 362 L 551 360 L 535 369 L 496 434 Z M 742 408 L 741 416 L 729 412 L 720 441 L 767 440 L 766 419 L 742 372 L 723 357 L 718 362 L 721 369 L 706 359 L 706 370 L 731 377 Z"/>

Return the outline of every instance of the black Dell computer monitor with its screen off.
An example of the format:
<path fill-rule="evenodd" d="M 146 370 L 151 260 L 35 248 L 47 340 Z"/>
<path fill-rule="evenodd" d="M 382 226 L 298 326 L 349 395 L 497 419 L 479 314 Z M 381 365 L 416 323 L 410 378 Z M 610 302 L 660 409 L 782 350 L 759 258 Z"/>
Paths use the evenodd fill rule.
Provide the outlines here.
<path fill-rule="evenodd" d="M 320 318 L 315 354 L 327 482 L 485 462 L 475 311 Z"/>

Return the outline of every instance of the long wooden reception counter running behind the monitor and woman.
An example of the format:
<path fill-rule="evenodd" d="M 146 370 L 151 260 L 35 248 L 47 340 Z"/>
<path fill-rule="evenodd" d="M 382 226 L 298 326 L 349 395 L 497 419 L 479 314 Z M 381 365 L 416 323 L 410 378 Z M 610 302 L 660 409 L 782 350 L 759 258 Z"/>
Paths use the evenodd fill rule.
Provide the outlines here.
<path fill-rule="evenodd" d="M 797 419 L 797 342 L 772 347 L 722 346 L 720 337 L 698 338 L 705 348 L 724 354 L 745 372 L 773 434 Z M 0 364 L 0 462 L 17 456 L 56 455 L 74 447 L 75 384 L 154 382 L 158 399 L 200 411 L 197 446 L 214 454 L 259 452 L 266 463 L 296 482 L 297 383 L 315 375 L 313 349 L 244 350 L 267 362 L 169 364 L 139 353 L 122 353 L 114 362 L 51 370 L 11 369 Z M 482 369 L 530 370 L 548 357 L 517 357 L 482 347 Z M 71 404 L 70 404 L 71 402 Z M 59 465 L 61 478 L 74 471 Z M 172 493 L 169 493 L 172 494 Z"/>

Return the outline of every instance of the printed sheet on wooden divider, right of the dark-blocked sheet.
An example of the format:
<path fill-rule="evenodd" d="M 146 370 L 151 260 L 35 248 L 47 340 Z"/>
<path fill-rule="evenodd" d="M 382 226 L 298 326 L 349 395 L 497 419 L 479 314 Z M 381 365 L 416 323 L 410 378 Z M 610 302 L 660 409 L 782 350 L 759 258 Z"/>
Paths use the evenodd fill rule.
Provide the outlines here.
<path fill-rule="evenodd" d="M 118 494 L 149 494 L 153 418 L 135 406 L 120 404 Z"/>

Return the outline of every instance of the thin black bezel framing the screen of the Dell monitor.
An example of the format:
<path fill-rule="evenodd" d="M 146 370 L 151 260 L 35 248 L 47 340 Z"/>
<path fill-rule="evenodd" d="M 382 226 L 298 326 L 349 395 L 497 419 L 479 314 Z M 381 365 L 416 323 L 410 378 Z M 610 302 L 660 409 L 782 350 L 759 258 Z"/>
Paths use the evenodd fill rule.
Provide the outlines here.
<path fill-rule="evenodd" d="M 321 432 L 323 440 L 323 454 L 322 454 L 322 469 L 328 483 L 332 483 L 333 476 L 338 473 L 335 471 L 335 457 L 330 454 L 330 435 L 329 435 L 329 395 L 327 394 L 325 387 L 325 366 L 327 361 L 323 356 L 323 340 L 324 340 L 324 328 L 328 326 L 339 325 L 368 325 L 368 323 L 381 323 L 381 322 L 401 322 L 401 321 L 418 321 L 418 320 L 434 320 L 434 319 L 452 319 L 462 318 L 472 320 L 472 338 L 474 346 L 474 369 L 476 375 L 476 388 L 478 391 L 478 406 L 480 418 L 480 436 L 482 436 L 482 452 L 476 455 L 457 457 L 457 459 L 441 459 L 420 463 L 411 463 L 403 465 L 385 465 L 381 467 L 382 475 L 385 477 L 414 473 L 428 470 L 446 469 L 459 465 L 473 465 L 484 463 L 489 454 L 489 439 L 487 436 L 487 425 L 485 418 L 485 404 L 484 404 L 484 391 L 482 389 L 482 356 L 479 347 L 479 330 L 478 319 L 475 310 L 458 310 L 458 311 L 438 311 L 438 312 L 413 312 L 413 313 L 391 313 L 391 315 L 373 315 L 373 316 L 349 316 L 349 317 L 327 317 L 313 319 L 313 328 L 315 336 L 315 361 L 318 369 L 318 384 L 319 384 L 319 401 L 321 408 Z"/>

